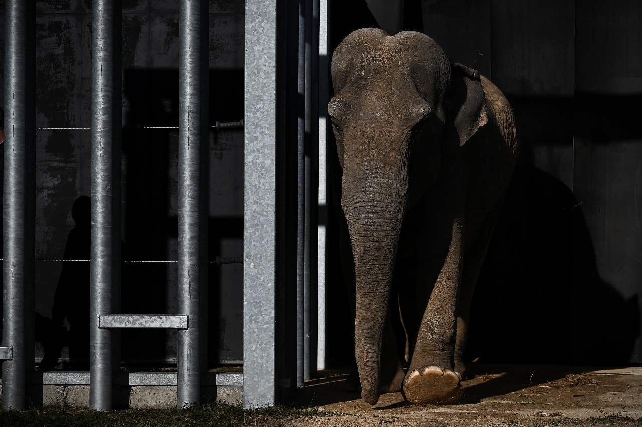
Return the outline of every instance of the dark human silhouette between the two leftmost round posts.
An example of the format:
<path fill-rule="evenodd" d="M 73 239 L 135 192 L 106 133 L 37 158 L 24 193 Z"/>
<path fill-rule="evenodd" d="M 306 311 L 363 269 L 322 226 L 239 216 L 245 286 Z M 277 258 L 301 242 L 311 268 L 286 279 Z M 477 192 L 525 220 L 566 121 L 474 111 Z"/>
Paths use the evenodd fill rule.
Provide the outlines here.
<path fill-rule="evenodd" d="M 69 322 L 69 360 L 74 369 L 89 366 L 89 257 L 91 245 L 91 205 L 88 196 L 80 196 L 71 208 L 76 225 L 69 232 L 65 260 L 53 297 L 53 325 Z M 85 261 L 86 260 L 86 261 Z"/>

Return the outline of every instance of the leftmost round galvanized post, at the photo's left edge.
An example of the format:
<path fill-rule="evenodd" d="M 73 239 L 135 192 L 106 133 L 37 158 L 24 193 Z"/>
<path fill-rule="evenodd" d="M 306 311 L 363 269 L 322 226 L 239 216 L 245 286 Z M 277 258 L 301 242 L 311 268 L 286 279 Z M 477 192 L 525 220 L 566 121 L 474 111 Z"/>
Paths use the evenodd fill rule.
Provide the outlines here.
<path fill-rule="evenodd" d="M 35 4 L 5 3 L 4 39 L 4 195 L 3 195 L 3 344 L 12 360 L 2 363 L 3 409 L 25 405 L 25 370 L 33 367 L 33 208 L 35 207 L 34 133 Z M 33 46 L 30 44 L 34 43 Z M 28 126 L 32 126 L 28 128 Z M 31 191 L 31 193 L 28 193 Z M 32 200 L 33 199 L 33 200 Z M 28 317 L 31 317 L 28 318 Z M 31 327 L 31 331 L 30 331 Z M 31 346 L 31 349 L 28 347 Z M 31 357 L 31 362 L 26 360 Z"/>

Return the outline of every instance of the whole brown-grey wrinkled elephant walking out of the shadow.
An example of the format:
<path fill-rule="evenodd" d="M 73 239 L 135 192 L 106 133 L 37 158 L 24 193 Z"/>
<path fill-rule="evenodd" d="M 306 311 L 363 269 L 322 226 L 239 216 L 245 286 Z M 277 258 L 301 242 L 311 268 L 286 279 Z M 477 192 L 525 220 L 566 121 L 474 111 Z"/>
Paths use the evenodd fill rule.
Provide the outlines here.
<path fill-rule="evenodd" d="M 415 31 L 354 31 L 334 51 L 332 78 L 361 397 L 374 405 L 401 390 L 413 404 L 454 403 L 474 284 L 517 156 L 512 110 Z M 393 284 L 407 374 L 390 324 Z"/>

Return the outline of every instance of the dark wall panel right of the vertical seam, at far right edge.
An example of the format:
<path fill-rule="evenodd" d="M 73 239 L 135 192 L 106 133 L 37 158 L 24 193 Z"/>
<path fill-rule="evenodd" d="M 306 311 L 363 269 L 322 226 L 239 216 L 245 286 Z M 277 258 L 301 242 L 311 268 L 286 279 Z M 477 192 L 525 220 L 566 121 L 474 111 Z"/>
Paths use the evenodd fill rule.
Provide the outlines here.
<path fill-rule="evenodd" d="M 583 218 L 574 236 L 583 245 L 575 254 L 582 292 L 574 297 L 582 308 L 600 309 L 575 315 L 573 347 L 582 362 L 639 363 L 642 4 L 590 0 L 576 8 L 573 189 Z M 593 336 L 603 335 L 611 336 L 607 347 L 592 345 Z"/>

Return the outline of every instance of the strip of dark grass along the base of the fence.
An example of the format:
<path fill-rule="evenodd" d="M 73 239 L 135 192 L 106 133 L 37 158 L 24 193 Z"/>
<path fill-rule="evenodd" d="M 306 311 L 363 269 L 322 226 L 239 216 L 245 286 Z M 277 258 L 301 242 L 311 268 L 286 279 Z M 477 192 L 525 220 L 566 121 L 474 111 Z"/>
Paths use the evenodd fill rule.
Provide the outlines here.
<path fill-rule="evenodd" d="M 39 408 L 0 411 L 0 426 L 21 427 L 276 427 L 291 419 L 338 415 L 318 408 L 296 409 L 272 406 L 243 410 L 236 405 L 203 405 L 189 409 L 123 410 L 95 412 L 69 408 Z"/>

